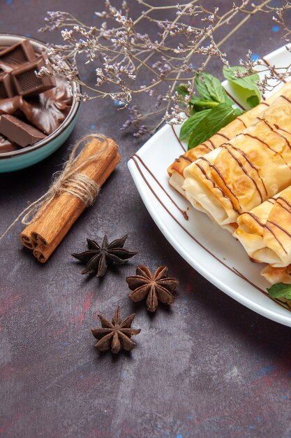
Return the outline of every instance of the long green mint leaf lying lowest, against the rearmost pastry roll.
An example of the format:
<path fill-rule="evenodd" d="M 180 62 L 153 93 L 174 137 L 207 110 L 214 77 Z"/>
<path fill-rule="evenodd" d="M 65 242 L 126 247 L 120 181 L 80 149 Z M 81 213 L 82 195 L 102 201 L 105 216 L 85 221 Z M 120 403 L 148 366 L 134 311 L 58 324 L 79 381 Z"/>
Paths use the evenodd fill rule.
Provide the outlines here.
<path fill-rule="evenodd" d="M 228 125 L 237 116 L 241 114 L 239 108 L 232 108 L 227 104 L 219 104 L 212 108 L 207 115 L 195 125 L 189 141 L 188 149 L 195 148 L 203 141 L 210 139 L 211 136 L 216 134 L 219 129 Z"/>

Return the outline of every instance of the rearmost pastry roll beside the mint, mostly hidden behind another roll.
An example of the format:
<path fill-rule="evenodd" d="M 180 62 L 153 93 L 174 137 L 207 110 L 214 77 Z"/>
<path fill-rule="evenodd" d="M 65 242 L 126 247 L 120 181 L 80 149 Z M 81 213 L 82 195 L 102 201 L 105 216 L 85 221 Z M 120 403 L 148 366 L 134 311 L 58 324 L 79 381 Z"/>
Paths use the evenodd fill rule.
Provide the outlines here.
<path fill-rule="evenodd" d="M 203 157 L 211 150 L 218 148 L 225 141 L 232 139 L 234 136 L 242 132 L 247 127 L 251 126 L 255 119 L 262 114 L 262 112 L 271 105 L 274 100 L 284 95 L 286 92 L 289 93 L 291 90 L 291 83 L 287 83 L 281 87 L 280 90 L 275 92 L 269 97 L 266 101 L 260 102 L 258 106 L 252 108 L 246 113 L 241 114 L 227 126 L 223 127 L 220 131 L 218 131 L 214 136 L 212 136 L 209 140 L 204 141 L 200 146 L 188 150 L 183 155 L 180 155 L 179 158 L 176 158 L 172 164 L 167 168 L 167 173 L 170 176 L 169 183 L 172 185 L 174 189 L 176 189 L 181 195 L 184 196 L 184 190 L 182 190 L 182 185 L 184 184 L 184 169 L 191 164 L 191 162 L 197 160 L 199 157 Z"/>

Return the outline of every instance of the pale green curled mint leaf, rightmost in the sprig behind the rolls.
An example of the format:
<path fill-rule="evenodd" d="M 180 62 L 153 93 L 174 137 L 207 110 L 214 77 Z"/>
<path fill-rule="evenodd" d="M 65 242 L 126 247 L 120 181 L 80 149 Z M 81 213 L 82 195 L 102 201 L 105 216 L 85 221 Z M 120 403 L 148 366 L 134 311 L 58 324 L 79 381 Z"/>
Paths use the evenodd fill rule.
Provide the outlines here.
<path fill-rule="evenodd" d="M 260 80 L 260 76 L 258 73 L 254 73 L 251 76 L 246 76 L 245 78 L 237 78 L 236 71 L 245 71 L 242 66 L 233 66 L 227 67 L 223 66 L 223 76 L 225 79 L 229 80 L 232 84 L 241 88 L 244 92 L 251 93 L 251 96 L 246 99 L 247 103 L 253 108 L 260 103 L 261 93 L 258 89 L 258 82 Z"/>

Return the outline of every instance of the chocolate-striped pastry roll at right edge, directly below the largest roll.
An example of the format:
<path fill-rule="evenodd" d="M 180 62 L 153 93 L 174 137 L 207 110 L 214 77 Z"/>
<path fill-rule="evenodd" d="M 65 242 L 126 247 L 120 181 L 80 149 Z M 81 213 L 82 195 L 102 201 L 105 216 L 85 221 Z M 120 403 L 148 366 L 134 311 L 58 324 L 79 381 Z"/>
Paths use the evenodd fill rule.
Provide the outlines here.
<path fill-rule="evenodd" d="M 291 186 L 237 218 L 234 236 L 255 262 L 291 264 Z"/>

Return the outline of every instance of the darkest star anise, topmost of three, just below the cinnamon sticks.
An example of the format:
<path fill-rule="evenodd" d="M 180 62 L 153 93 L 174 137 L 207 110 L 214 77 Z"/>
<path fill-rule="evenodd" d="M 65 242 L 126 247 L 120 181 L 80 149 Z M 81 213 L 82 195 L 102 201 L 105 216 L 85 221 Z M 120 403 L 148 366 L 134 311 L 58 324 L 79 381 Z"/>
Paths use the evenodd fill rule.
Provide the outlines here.
<path fill-rule="evenodd" d="M 103 277 L 106 274 L 108 264 L 125 264 L 127 259 L 137 254 L 124 249 L 124 243 L 128 234 L 108 243 L 107 236 L 104 236 L 102 245 L 94 240 L 87 239 L 88 250 L 83 253 L 73 253 L 73 257 L 86 263 L 82 274 L 91 274 L 97 271 L 97 277 Z"/>

